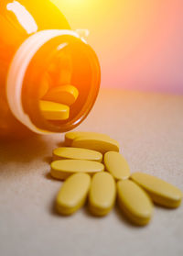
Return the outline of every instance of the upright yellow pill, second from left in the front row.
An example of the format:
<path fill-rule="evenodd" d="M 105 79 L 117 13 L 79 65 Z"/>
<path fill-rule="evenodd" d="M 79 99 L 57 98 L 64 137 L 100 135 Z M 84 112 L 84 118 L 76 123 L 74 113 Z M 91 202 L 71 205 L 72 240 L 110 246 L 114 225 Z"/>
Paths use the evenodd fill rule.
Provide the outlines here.
<path fill-rule="evenodd" d="M 105 216 L 113 208 L 116 187 L 110 173 L 96 173 L 92 177 L 89 192 L 89 207 L 93 215 Z"/>

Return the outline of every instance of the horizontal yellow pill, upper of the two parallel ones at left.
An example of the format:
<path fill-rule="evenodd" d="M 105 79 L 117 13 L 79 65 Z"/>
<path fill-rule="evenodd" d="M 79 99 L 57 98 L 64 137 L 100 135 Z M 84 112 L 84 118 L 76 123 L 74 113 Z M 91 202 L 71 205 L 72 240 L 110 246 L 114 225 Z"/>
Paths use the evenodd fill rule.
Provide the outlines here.
<path fill-rule="evenodd" d="M 53 160 L 61 159 L 102 161 L 102 153 L 79 148 L 58 148 L 53 150 Z"/>

